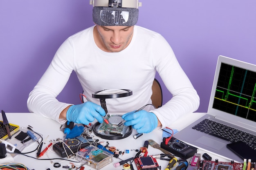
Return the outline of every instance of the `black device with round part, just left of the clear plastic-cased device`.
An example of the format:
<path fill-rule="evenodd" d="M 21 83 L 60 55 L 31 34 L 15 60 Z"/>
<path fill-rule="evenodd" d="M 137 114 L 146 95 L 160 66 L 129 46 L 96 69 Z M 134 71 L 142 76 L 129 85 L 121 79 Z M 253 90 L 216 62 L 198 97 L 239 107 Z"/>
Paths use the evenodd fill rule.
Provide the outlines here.
<path fill-rule="evenodd" d="M 53 150 L 61 157 L 68 157 L 76 153 L 79 149 L 90 145 L 91 137 L 86 139 L 82 136 L 60 141 L 53 146 Z"/>

